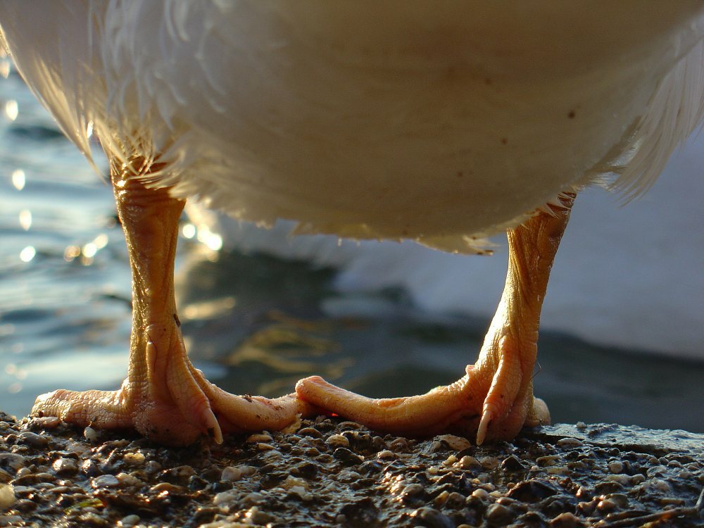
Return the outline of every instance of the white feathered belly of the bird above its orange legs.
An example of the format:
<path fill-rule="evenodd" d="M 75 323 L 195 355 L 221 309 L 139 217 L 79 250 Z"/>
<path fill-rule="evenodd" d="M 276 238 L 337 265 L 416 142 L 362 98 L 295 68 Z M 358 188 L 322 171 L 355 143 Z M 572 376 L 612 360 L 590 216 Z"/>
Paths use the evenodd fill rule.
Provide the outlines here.
<path fill-rule="evenodd" d="M 702 118 L 703 20 L 698 0 L 0 4 L 87 156 L 93 122 L 113 160 L 237 218 L 447 251 L 609 173 L 646 189 Z"/>

